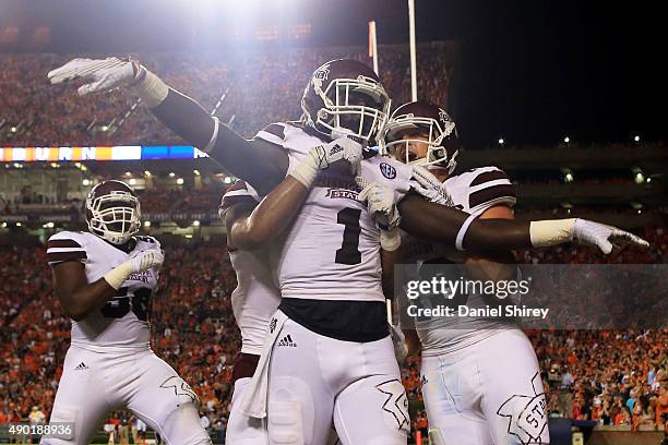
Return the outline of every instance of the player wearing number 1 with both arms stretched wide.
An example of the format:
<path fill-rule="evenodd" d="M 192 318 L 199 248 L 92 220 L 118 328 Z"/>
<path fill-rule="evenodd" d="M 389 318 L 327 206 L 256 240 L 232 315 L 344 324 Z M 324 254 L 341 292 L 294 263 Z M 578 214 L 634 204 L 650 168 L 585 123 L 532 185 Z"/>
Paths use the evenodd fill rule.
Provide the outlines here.
<path fill-rule="evenodd" d="M 167 127 L 260 194 L 269 193 L 269 199 L 278 185 L 274 196 L 283 200 L 269 201 L 265 207 L 273 212 L 266 216 L 286 216 L 294 204 L 303 204 L 289 219 L 290 227 L 285 227 L 287 218 L 272 222 L 286 229 L 272 245 L 283 300 L 253 376 L 257 384 L 249 388 L 252 397 L 244 398 L 250 400 L 244 412 L 263 418 L 270 384 L 271 443 L 323 443 L 332 418 L 345 444 L 406 442 L 406 398 L 385 317 L 374 216 L 381 215 L 384 228 L 392 229 L 399 221 L 398 209 L 408 232 L 457 241 L 474 251 L 553 245 L 573 238 L 606 251 L 612 248 L 610 240 L 642 243 L 585 220 L 479 220 L 414 193 L 429 195 L 432 190 L 411 183 L 419 179 L 413 167 L 378 156 L 361 161 L 361 171 L 356 171 L 370 182 L 371 189 L 360 193 L 349 171 L 327 168 L 342 153 L 353 165 L 362 153 L 361 144 L 338 132 L 373 143 L 389 111 L 380 80 L 357 61 L 320 67 L 305 89 L 302 120 L 272 124 L 252 141 L 219 124 L 136 62 L 79 59 L 49 77 L 55 83 L 83 79 L 88 83 L 81 94 L 130 85 Z"/>

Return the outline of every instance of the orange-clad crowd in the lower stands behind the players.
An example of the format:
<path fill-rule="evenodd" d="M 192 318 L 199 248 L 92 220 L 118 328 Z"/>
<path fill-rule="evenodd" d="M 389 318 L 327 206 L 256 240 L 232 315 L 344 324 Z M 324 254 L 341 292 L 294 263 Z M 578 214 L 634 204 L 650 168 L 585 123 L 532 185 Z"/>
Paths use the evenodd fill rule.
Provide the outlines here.
<path fill-rule="evenodd" d="M 651 226 L 648 253 L 603 256 L 587 248 L 521 252 L 521 261 L 666 263 L 668 232 Z M 222 244 L 222 243 L 220 243 Z M 240 347 L 230 292 L 236 277 L 217 243 L 165 245 L 160 290 L 153 300 L 156 353 L 191 384 L 212 434 L 222 437 L 229 414 L 231 363 Z M 70 321 L 51 292 L 43 248 L 0 248 L 0 424 L 48 418 L 69 346 Z M 552 416 L 600 424 L 659 426 L 668 411 L 668 329 L 532 330 Z M 411 402 L 421 400 L 419 361 L 403 380 Z M 424 430 L 418 410 L 414 430 Z M 118 417 L 119 414 L 115 414 Z M 128 414 L 124 414 L 128 418 Z M 123 417 L 123 416 L 121 416 Z M 118 419 L 116 419 L 118 420 Z"/>

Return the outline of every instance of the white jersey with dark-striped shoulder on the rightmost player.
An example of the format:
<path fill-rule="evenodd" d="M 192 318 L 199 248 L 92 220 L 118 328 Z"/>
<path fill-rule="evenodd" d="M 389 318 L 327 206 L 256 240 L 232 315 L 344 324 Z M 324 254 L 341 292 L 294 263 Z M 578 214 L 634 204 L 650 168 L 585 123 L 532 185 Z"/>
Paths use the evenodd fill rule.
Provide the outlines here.
<path fill-rule="evenodd" d="M 513 207 L 516 202 L 515 188 L 504 171 L 497 167 L 474 168 L 461 175 L 455 175 L 443 181 L 451 194 L 455 208 L 468 214 L 482 214 L 496 205 Z M 439 245 L 425 242 L 406 232 L 402 232 L 402 262 L 415 263 L 421 267 L 426 262 L 433 263 L 463 263 L 466 253 L 454 246 Z M 403 296 L 402 296 L 403 297 Z M 443 304 L 442 297 L 438 301 L 420 300 L 421 305 L 433 306 Z M 466 305 L 485 306 L 486 301 L 480 297 L 470 294 Z M 508 327 L 503 320 L 475 320 L 461 317 L 436 317 L 431 320 L 414 320 L 402 322 L 402 327 L 417 329 L 422 344 L 425 357 L 437 356 L 457 350 L 484 338 L 493 335 L 500 328 Z"/>

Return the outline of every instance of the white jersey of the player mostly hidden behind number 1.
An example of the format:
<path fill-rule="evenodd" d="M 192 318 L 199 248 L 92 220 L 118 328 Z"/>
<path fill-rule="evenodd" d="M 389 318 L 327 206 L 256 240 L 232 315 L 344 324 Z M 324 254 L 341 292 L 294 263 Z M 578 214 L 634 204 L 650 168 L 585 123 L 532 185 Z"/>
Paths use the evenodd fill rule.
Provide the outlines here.
<path fill-rule="evenodd" d="M 220 212 L 239 203 L 257 205 L 260 196 L 243 181 L 237 181 L 223 195 Z M 241 330 L 241 352 L 260 356 L 270 320 L 278 303 L 281 292 L 274 276 L 266 249 L 255 251 L 236 250 L 230 246 L 229 260 L 237 274 L 237 287 L 231 293 L 235 320 Z"/>

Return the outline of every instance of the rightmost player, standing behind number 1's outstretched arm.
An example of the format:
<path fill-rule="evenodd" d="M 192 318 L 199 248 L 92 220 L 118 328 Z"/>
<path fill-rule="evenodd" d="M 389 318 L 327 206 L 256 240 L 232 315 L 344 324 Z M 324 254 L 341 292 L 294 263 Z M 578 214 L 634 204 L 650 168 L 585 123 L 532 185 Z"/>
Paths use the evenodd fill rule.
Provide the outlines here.
<path fill-rule="evenodd" d="M 457 208 L 480 218 L 512 219 L 515 190 L 505 172 L 481 167 L 452 175 L 457 148 L 455 123 L 445 110 L 420 101 L 398 107 L 381 140 L 385 154 L 429 168 L 443 182 Z M 443 251 L 403 233 L 399 255 L 403 263 L 464 263 L 473 266 L 476 274 L 487 269 L 480 279 L 516 279 L 516 269 L 508 265 L 514 263 L 510 252 L 486 255 L 503 263 L 499 264 Z M 487 303 L 476 294 L 469 294 L 466 301 L 469 306 Z M 399 306 L 404 315 L 399 320 L 405 322 L 405 304 Z M 416 318 L 403 324 L 409 353 L 416 353 L 421 346 L 430 443 L 549 443 L 538 360 L 517 326 L 500 318 L 457 317 Z"/>

